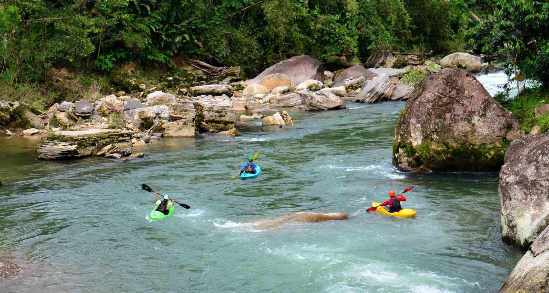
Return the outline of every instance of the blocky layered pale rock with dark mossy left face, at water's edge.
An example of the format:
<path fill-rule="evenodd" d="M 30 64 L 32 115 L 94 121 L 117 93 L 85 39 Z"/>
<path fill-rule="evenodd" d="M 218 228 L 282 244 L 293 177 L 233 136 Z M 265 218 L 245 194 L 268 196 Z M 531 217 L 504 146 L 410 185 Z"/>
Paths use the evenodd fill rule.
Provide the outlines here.
<path fill-rule="evenodd" d="M 204 122 L 219 130 L 234 128 L 237 113 L 229 97 L 198 96 L 193 98 L 196 111 L 195 125 Z"/>

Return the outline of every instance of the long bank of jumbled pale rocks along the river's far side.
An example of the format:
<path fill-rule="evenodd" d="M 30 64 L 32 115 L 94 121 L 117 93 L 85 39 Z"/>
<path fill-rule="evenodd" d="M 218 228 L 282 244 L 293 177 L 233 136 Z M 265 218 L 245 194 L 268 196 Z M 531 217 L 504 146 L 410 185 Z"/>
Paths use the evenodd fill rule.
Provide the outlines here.
<path fill-rule="evenodd" d="M 407 75 L 417 75 L 416 79 L 421 80 L 442 67 L 461 67 L 470 72 L 478 72 L 481 67 L 480 58 L 467 53 L 435 60 L 381 50 L 368 60 L 370 69 L 354 65 L 331 72 L 314 58 L 297 56 L 273 65 L 251 80 L 240 79 L 239 69 L 229 68 L 221 70 L 225 78 L 207 82 L 204 72 L 213 69 L 209 64 L 199 64 L 205 71 L 194 69 L 184 78 L 170 76 L 150 88 L 136 84 L 130 76 L 119 76 L 116 84 L 124 90 L 116 95 L 97 101 L 56 103 L 46 111 L 25 103 L 0 101 L 0 126 L 5 135 L 43 135 L 45 141 L 38 147 L 38 158 L 122 158 L 131 156 L 133 147 L 161 137 L 195 137 L 200 132 L 238 136 L 235 127 L 245 127 L 247 120 L 293 126 L 284 112 L 275 111 L 270 118 L 262 113 L 243 115 L 252 109 L 294 107 L 315 111 L 343 109 L 344 99 L 361 103 L 402 101 L 418 82 L 410 82 Z M 126 91 L 130 94 L 126 95 Z M 113 139 L 112 131 L 107 130 L 124 134 L 124 139 Z"/>

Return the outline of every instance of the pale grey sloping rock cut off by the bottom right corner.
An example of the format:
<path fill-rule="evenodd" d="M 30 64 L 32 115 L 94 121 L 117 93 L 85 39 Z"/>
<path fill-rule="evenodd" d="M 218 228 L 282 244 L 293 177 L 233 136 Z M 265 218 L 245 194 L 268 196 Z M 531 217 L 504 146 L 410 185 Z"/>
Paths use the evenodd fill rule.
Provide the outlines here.
<path fill-rule="evenodd" d="M 549 284 L 549 228 L 536 238 L 497 293 L 547 292 Z"/>

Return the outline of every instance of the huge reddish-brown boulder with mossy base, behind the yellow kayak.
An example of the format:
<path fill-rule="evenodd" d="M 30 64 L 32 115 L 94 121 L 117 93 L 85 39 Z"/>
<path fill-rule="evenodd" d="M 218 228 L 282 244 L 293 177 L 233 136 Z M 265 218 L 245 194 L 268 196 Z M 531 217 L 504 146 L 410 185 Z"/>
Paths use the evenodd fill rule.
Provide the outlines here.
<path fill-rule="evenodd" d="M 393 164 L 405 172 L 496 171 L 517 118 L 460 68 L 430 74 L 413 91 L 395 129 Z"/>

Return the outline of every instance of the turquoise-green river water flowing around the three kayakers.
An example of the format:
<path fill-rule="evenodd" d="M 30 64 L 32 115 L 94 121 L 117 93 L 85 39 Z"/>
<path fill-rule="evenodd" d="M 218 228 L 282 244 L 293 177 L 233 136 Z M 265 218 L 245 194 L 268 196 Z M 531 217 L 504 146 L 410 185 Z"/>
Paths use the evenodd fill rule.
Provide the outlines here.
<path fill-rule="evenodd" d="M 405 102 L 289 110 L 235 138 L 163 139 L 145 157 L 36 159 L 0 137 L 0 256 L 26 262 L 2 292 L 496 292 L 523 252 L 500 233 L 497 173 L 401 173 L 391 164 Z M 260 151 L 255 179 L 233 179 Z M 147 184 L 187 203 L 150 220 Z M 388 191 L 412 218 L 366 213 Z M 295 212 L 350 219 L 258 230 Z"/>

